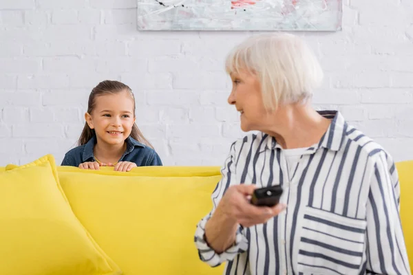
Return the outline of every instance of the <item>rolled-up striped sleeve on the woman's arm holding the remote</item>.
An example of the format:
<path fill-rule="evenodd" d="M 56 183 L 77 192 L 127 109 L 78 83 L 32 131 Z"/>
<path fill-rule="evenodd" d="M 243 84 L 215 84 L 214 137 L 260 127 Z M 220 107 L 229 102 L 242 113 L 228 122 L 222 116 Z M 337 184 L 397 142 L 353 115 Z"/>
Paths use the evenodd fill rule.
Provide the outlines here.
<path fill-rule="evenodd" d="M 229 188 L 229 186 L 238 184 L 236 182 L 236 177 L 235 177 L 235 143 L 231 146 L 231 152 L 229 154 L 229 157 L 227 157 L 226 162 L 224 163 L 224 166 L 222 167 L 221 170 L 221 175 L 222 178 L 218 182 L 217 186 L 215 187 L 215 190 L 212 193 L 211 199 L 213 202 L 213 209 L 209 214 L 207 214 L 204 219 L 202 219 L 196 228 L 195 231 L 195 245 L 198 248 L 198 254 L 200 256 L 200 259 L 209 265 L 216 267 L 223 263 L 224 261 L 232 261 L 237 254 L 245 252 L 248 248 L 248 240 L 246 239 L 246 236 L 244 235 L 244 232 L 242 232 L 242 227 L 238 226 L 237 228 L 237 233 L 235 236 L 235 243 L 228 248 L 226 251 L 222 252 L 221 254 L 218 254 L 215 252 L 205 241 L 205 224 L 207 224 L 207 221 L 211 218 L 213 212 L 218 206 L 218 203 L 222 199 L 222 196 L 224 195 L 225 191 Z"/>

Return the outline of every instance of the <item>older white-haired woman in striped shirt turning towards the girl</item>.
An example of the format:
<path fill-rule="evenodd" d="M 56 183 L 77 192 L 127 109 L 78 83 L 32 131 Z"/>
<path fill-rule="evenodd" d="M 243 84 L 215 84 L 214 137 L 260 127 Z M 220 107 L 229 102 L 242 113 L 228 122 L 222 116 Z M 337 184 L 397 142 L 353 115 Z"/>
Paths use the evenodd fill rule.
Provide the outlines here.
<path fill-rule="evenodd" d="M 290 34 L 253 36 L 226 60 L 243 131 L 195 243 L 225 274 L 410 274 L 392 157 L 338 111 L 315 111 L 323 78 Z M 273 207 L 255 188 L 281 186 Z"/>

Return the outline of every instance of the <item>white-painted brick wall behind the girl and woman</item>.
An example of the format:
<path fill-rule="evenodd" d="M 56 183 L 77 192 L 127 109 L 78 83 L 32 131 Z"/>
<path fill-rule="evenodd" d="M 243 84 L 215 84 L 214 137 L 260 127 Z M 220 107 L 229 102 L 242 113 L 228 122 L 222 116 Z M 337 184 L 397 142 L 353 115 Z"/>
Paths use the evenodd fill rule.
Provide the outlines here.
<path fill-rule="evenodd" d="M 343 0 L 343 31 L 300 32 L 339 109 L 396 160 L 413 159 L 413 4 Z M 166 165 L 221 165 L 243 135 L 224 56 L 251 32 L 138 32 L 136 0 L 0 1 L 0 166 L 53 153 L 83 128 L 89 91 L 122 80 Z"/>

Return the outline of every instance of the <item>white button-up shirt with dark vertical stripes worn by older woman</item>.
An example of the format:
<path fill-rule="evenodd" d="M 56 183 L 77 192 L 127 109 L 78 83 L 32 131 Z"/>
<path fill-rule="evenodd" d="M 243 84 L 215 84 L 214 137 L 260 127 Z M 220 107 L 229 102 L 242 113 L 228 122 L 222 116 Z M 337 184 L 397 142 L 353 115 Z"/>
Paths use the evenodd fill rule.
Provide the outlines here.
<path fill-rule="evenodd" d="M 212 194 L 213 210 L 195 232 L 200 259 L 224 274 L 410 274 L 399 218 L 399 178 L 379 144 L 337 111 L 321 141 L 288 167 L 274 137 L 234 142 Z M 267 223 L 240 226 L 233 247 L 215 253 L 204 227 L 234 184 L 281 185 L 287 209 Z"/>

